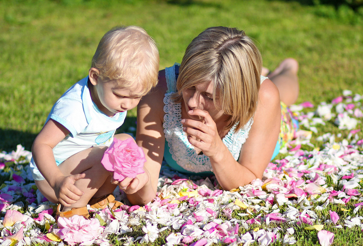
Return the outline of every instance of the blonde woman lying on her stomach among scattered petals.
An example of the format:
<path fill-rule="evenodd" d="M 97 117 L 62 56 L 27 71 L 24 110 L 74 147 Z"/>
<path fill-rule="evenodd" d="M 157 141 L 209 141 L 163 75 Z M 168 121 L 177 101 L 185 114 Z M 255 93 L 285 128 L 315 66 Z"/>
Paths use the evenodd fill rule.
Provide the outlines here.
<path fill-rule="evenodd" d="M 282 109 L 289 117 L 280 100 L 297 99 L 298 64 L 284 60 L 270 79 L 261 71 L 253 41 L 220 26 L 193 39 L 180 67 L 159 72 L 158 86 L 138 105 L 136 141 L 146 155 L 145 173 L 119 184 L 132 204 L 154 199 L 163 157 L 180 172 L 214 174 L 225 190 L 262 178 L 293 135 L 291 121 L 281 120 Z"/>

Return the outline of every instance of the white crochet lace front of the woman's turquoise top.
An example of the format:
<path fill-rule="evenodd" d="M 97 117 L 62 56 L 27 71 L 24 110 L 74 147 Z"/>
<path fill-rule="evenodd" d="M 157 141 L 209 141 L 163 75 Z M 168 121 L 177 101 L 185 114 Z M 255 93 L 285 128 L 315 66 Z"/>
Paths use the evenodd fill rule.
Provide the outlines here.
<path fill-rule="evenodd" d="M 165 149 L 169 150 L 168 152 L 170 153 L 166 154 L 170 154 L 175 163 L 169 163 L 170 161 L 168 160 L 167 162 L 171 167 L 175 167 L 177 164 L 184 170 L 192 173 L 213 171 L 209 157 L 204 154 L 197 154 L 194 147 L 188 142 L 187 135 L 183 131 L 183 126 L 181 124 L 181 104 L 174 103 L 171 98 L 171 95 L 176 91 L 175 75 L 178 71 L 175 71 L 175 69 L 178 69 L 178 64 L 174 64 L 174 66 L 165 69 L 168 87 L 164 96 L 165 114 L 163 128 L 167 145 Z M 264 78 L 261 77 L 261 83 Z M 240 155 L 242 144 L 245 143 L 248 138 L 252 123 L 253 120 L 250 119 L 237 133 L 234 133 L 237 124 L 234 125 L 222 139 L 223 143 L 227 146 L 229 151 L 231 151 L 235 160 L 237 160 Z M 166 154 L 164 154 L 164 157 Z"/>

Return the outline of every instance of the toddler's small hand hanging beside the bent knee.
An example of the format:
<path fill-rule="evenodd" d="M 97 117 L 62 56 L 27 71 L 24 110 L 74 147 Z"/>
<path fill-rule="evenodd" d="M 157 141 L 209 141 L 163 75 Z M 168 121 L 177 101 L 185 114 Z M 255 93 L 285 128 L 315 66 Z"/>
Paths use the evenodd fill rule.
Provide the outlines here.
<path fill-rule="evenodd" d="M 54 183 L 53 190 L 62 205 L 69 207 L 83 196 L 84 192 L 78 189 L 74 183 L 85 176 L 86 174 L 76 174 L 58 177 Z"/>

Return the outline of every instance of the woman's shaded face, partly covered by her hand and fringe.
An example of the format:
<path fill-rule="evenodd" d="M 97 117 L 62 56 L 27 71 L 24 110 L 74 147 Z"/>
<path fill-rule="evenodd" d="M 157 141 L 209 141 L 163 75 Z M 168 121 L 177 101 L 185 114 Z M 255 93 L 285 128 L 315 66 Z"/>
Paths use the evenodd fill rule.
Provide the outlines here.
<path fill-rule="evenodd" d="M 216 93 L 216 102 L 214 103 L 213 101 L 213 83 L 211 81 L 203 82 L 188 89 L 184 89 L 181 93 L 183 95 L 183 101 L 187 113 L 192 109 L 201 109 L 208 111 L 215 121 L 221 117 L 225 117 L 223 111 L 221 109 L 217 109 L 215 106 L 215 103 L 217 106 L 220 105 L 218 92 Z M 200 117 L 189 114 L 188 116 L 192 119 L 200 120 Z"/>

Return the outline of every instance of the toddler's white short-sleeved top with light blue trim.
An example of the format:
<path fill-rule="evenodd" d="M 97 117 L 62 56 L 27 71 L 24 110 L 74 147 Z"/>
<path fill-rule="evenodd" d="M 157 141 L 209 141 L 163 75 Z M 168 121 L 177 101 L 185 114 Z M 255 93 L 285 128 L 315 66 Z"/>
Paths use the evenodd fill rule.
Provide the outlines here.
<path fill-rule="evenodd" d="M 126 112 L 109 117 L 100 111 L 91 99 L 87 83 L 88 76 L 69 88 L 54 104 L 46 120 L 47 122 L 53 119 L 70 132 L 53 148 L 54 158 L 58 165 L 89 147 L 110 146 L 115 130 L 125 120 Z M 44 179 L 33 159 L 30 161 L 30 168 L 35 180 Z"/>

